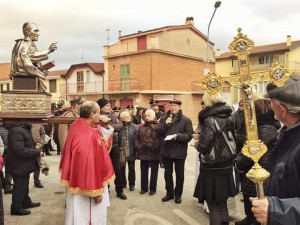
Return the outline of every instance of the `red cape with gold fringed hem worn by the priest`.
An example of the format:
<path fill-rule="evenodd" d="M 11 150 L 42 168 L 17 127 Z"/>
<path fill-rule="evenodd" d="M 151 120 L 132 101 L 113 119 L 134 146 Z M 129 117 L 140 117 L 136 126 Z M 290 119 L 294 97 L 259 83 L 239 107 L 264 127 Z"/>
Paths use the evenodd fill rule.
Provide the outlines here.
<path fill-rule="evenodd" d="M 114 169 L 96 127 L 78 118 L 70 127 L 60 160 L 61 182 L 69 191 L 90 197 L 103 193 L 114 178 Z"/>

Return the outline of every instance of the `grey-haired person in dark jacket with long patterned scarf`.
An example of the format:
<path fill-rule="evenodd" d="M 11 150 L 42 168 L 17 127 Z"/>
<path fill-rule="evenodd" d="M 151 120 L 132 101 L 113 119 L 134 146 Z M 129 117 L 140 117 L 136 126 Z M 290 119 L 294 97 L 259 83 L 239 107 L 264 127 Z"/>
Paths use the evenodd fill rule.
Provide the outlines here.
<path fill-rule="evenodd" d="M 124 111 L 120 114 L 123 128 L 119 132 L 120 166 L 123 180 L 123 187 L 127 186 L 126 163 L 128 165 L 128 183 L 129 190 L 135 190 L 135 160 L 136 149 L 134 147 L 134 138 L 137 133 L 137 126 L 132 123 L 129 112 Z"/>

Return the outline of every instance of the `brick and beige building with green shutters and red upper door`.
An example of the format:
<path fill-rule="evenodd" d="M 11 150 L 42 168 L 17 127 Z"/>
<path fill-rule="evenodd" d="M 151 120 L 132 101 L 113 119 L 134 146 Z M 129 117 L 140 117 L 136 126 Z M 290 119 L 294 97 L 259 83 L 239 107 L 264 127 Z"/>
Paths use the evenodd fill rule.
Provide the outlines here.
<path fill-rule="evenodd" d="M 183 102 L 184 114 L 197 122 L 203 91 L 194 86 L 204 78 L 207 37 L 194 26 L 166 26 L 120 36 L 104 46 L 104 95 L 112 105 L 149 107 L 151 99 L 169 108 L 169 100 Z M 209 58 L 214 58 L 209 43 Z M 214 71 L 214 63 L 210 70 Z"/>

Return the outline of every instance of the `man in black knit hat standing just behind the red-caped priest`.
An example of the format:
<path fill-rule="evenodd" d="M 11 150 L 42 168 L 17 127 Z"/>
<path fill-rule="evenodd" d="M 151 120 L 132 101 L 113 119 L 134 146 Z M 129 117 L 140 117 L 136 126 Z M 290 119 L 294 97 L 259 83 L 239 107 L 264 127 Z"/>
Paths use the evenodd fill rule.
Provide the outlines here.
<path fill-rule="evenodd" d="M 100 113 L 102 115 L 106 115 L 111 119 L 109 124 L 101 124 L 101 126 L 108 128 L 108 125 L 112 126 L 113 131 L 113 144 L 111 151 L 109 153 L 114 170 L 115 170 L 115 190 L 117 192 L 117 197 L 126 200 L 127 196 L 123 192 L 123 183 L 122 183 L 122 174 L 120 168 L 120 150 L 118 147 L 118 133 L 123 128 L 123 123 L 119 118 L 114 114 L 110 107 L 110 101 L 106 98 L 100 98 L 97 101 L 98 105 L 100 106 Z"/>

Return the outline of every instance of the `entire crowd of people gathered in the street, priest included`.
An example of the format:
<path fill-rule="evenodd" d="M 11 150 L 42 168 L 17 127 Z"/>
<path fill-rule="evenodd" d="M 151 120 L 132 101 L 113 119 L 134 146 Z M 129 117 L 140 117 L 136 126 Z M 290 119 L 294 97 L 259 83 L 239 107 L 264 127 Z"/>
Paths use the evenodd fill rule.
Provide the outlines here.
<path fill-rule="evenodd" d="M 221 94 L 206 92 L 194 130 L 192 121 L 183 114 L 180 100 L 171 100 L 167 112 L 160 111 L 158 103 L 151 100 L 148 108 L 138 107 L 134 116 L 131 106 L 112 109 L 108 99 L 94 102 L 78 96 L 71 107 L 59 105 L 55 112 L 56 116 L 78 118 L 71 125 L 0 127 L 0 151 L 5 165 L 1 183 L 5 194 L 12 193 L 11 215 L 28 215 L 29 208 L 41 205 L 29 197 L 29 175 L 34 173 L 34 185 L 43 187 L 39 161 L 43 153 L 51 154 L 51 141 L 56 142 L 57 154 L 62 155 L 59 169 L 61 182 L 67 186 L 66 224 L 106 224 L 112 181 L 116 196 L 127 200 L 123 190 L 136 188 L 136 160 L 140 160 L 140 195 L 156 194 L 162 164 L 166 194 L 161 202 L 173 200 L 180 204 L 188 143 L 194 138 L 200 173 L 193 196 L 199 203 L 207 203 L 211 225 L 229 224 L 227 201 L 240 191 L 239 186 L 246 217 L 236 225 L 297 224 L 299 91 L 299 77 L 291 76 L 283 87 L 269 84 L 266 98 L 254 101 L 258 136 L 268 148 L 259 163 L 271 174 L 264 185 L 264 199 L 257 198 L 255 184 L 245 176 L 253 166 L 253 161 L 241 154 L 247 141 L 245 102 L 239 102 L 238 111 L 233 112 Z M 218 144 L 218 132 L 234 135 L 232 157 L 218 156 L 218 148 L 225 151 L 229 145 Z"/>

